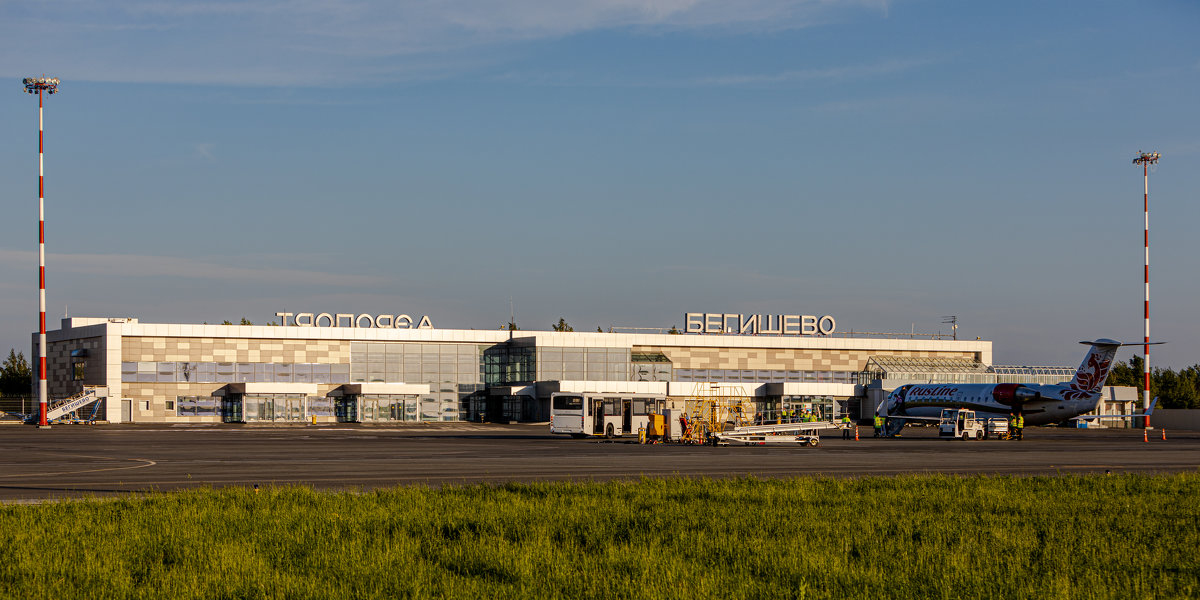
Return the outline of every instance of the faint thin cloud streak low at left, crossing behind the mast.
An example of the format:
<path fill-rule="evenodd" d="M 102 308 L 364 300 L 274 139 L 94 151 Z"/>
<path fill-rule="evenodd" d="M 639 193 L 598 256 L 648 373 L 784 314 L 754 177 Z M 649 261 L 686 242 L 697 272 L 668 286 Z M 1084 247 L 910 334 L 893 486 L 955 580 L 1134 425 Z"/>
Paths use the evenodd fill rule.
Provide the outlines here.
<path fill-rule="evenodd" d="M 245 258 L 238 258 L 245 262 Z M 0 250 L 0 263 L 12 268 L 37 263 L 37 254 L 29 251 Z M 142 254 L 48 254 L 47 264 L 61 272 L 102 275 L 112 277 L 180 277 L 185 280 L 216 280 L 230 282 L 282 283 L 304 286 L 380 286 L 384 277 L 236 266 L 194 258 Z"/>

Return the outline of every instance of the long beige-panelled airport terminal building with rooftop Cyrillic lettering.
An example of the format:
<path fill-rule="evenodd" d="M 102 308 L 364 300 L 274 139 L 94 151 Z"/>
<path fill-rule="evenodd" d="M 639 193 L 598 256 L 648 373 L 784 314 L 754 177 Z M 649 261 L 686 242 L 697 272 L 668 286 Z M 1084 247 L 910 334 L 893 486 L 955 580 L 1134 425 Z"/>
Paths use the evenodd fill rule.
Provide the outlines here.
<path fill-rule="evenodd" d="M 896 371 L 958 379 L 991 362 L 988 341 L 845 336 L 832 317 L 688 313 L 678 334 L 437 329 L 428 317 L 403 314 L 277 317 L 283 324 L 65 318 L 47 337 L 52 404 L 101 388 L 106 400 L 77 416 L 542 421 L 554 391 L 682 398 L 720 389 L 752 397 L 768 415 L 803 406 L 824 418 L 864 418 L 870 390 L 889 371 L 893 379 Z"/>

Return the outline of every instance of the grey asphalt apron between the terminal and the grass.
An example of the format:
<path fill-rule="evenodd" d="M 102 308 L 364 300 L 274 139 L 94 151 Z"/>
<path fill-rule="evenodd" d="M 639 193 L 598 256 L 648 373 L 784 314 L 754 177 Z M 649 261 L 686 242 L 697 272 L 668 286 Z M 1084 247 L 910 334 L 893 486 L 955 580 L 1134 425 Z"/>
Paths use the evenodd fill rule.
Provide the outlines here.
<path fill-rule="evenodd" d="M 26 425 L 0 427 L 0 502 L 107 497 L 198 486 L 323 490 L 642 476 L 1036 475 L 1200 469 L 1200 432 L 1026 428 L 1021 442 L 895 439 L 818 448 L 640 445 L 571 439 L 541 425 Z"/>

